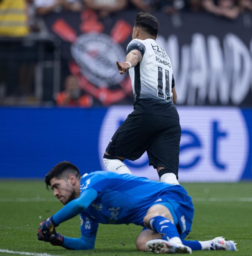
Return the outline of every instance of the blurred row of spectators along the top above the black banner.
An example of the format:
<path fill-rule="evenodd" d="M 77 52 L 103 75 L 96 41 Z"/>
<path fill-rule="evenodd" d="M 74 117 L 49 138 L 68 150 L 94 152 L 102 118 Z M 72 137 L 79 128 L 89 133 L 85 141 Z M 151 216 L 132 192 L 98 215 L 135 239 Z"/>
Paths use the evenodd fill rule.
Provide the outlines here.
<path fill-rule="evenodd" d="M 9 12 L 0 12 L 0 35 L 14 36 L 15 31 L 8 30 L 7 23 L 22 21 L 23 28 L 19 24 L 16 31 L 16 36 L 19 36 L 43 31 L 45 28 L 41 17 L 50 12 L 81 12 L 91 9 L 102 18 L 122 10 L 137 9 L 168 15 L 178 12 L 209 12 L 226 19 L 236 19 L 241 13 L 252 13 L 252 0 L 0 0 L 0 10 L 6 9 Z M 10 17 L 14 18 L 11 10 L 18 10 L 18 20 L 10 20 Z"/>

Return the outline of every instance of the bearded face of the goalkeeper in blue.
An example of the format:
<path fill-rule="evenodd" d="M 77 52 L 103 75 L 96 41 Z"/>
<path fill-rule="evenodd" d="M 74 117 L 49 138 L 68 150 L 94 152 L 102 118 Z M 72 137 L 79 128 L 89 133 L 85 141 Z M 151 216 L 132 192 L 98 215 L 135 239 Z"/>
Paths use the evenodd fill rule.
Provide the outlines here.
<path fill-rule="evenodd" d="M 76 198 L 74 186 L 69 180 L 52 178 L 50 181 L 54 197 L 64 205 Z"/>

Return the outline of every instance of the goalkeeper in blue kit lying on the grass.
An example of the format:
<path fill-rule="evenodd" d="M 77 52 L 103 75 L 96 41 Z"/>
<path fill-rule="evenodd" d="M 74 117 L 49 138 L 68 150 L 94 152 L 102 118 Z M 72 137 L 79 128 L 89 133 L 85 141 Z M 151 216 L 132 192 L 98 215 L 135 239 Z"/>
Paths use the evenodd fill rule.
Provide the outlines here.
<path fill-rule="evenodd" d="M 98 223 L 143 226 L 138 250 L 154 253 L 191 253 L 192 250 L 236 250 L 233 241 L 222 237 L 198 242 L 183 240 L 191 230 L 192 198 L 180 185 L 171 185 L 129 174 L 96 171 L 81 177 L 67 161 L 46 175 L 47 187 L 65 206 L 40 223 L 38 239 L 67 249 L 93 249 Z M 63 221 L 77 214 L 81 237 L 69 238 L 56 232 Z"/>

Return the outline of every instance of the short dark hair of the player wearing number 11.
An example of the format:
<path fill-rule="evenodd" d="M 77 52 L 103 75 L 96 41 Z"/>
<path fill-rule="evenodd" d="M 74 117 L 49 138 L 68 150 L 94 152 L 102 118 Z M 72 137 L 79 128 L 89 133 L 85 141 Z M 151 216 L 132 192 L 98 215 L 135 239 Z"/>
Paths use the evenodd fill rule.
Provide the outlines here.
<path fill-rule="evenodd" d="M 157 36 L 159 22 L 158 19 L 148 12 L 139 12 L 135 18 L 135 27 L 141 27 L 145 32 L 150 35 Z"/>

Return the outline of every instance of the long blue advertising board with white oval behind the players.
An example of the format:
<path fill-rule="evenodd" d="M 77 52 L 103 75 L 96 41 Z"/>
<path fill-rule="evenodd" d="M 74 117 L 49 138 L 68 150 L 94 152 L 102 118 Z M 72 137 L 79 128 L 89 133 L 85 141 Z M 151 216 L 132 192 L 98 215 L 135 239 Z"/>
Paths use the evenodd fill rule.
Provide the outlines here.
<path fill-rule="evenodd" d="M 252 109 L 178 106 L 182 129 L 179 181 L 252 179 Z M 0 108 L 0 177 L 43 178 L 60 161 L 81 173 L 106 170 L 103 154 L 132 106 Z M 133 174 L 158 180 L 147 154 Z"/>

